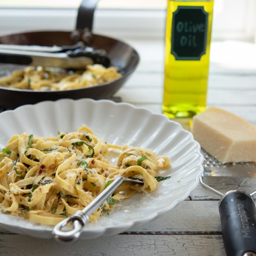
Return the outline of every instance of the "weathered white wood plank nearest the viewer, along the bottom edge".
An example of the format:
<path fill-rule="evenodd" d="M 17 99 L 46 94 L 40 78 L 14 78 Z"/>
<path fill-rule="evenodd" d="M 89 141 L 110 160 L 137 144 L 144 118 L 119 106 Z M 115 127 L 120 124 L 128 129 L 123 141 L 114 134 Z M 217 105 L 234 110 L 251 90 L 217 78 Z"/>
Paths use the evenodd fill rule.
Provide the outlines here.
<path fill-rule="evenodd" d="M 60 244 L 21 235 L 0 235 L 0 255 L 8 256 L 223 256 L 222 236 L 116 235 Z"/>

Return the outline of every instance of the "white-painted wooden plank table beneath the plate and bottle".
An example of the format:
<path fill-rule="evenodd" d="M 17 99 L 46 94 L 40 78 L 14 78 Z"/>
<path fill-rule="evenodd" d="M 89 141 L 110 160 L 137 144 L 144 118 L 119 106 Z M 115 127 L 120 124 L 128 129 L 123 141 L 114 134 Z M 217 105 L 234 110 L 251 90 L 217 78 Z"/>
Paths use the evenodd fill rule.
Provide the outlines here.
<path fill-rule="evenodd" d="M 116 96 L 124 102 L 161 113 L 163 42 L 130 40 L 129 43 L 140 53 L 141 62 Z M 256 46 L 239 46 L 232 42 L 212 44 L 208 105 L 227 109 L 256 124 Z M 236 56 L 240 56 L 239 59 Z M 236 185 L 230 182 L 230 185 L 213 186 L 222 192 L 237 187 L 248 191 L 256 189 L 254 180 L 236 182 Z M 198 185 L 187 200 L 153 222 L 120 235 L 74 244 L 59 244 L 0 230 L 0 256 L 34 255 L 224 256 L 218 197 Z"/>

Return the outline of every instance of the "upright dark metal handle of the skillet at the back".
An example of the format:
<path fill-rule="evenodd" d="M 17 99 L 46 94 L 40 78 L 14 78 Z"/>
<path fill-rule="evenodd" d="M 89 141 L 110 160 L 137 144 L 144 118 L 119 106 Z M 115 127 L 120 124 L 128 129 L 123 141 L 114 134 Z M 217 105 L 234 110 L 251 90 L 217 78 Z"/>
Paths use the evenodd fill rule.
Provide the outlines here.
<path fill-rule="evenodd" d="M 76 29 L 92 31 L 94 11 L 99 0 L 82 0 L 78 9 Z"/>

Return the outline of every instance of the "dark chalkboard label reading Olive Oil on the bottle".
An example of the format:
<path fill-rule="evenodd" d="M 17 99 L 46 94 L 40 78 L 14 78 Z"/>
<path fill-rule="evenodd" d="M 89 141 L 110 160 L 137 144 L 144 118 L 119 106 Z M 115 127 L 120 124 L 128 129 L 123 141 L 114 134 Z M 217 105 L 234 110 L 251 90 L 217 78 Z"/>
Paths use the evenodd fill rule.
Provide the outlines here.
<path fill-rule="evenodd" d="M 173 13 L 171 54 L 176 60 L 200 60 L 206 51 L 208 13 L 202 6 L 178 6 Z"/>

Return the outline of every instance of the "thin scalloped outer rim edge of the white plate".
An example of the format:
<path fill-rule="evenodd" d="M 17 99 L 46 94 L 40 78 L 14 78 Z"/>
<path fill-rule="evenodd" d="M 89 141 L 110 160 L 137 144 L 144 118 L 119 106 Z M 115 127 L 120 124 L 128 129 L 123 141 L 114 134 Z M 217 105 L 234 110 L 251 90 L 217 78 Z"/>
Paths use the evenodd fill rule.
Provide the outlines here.
<path fill-rule="evenodd" d="M 133 109 L 144 109 L 146 111 L 148 111 L 151 115 L 155 115 L 155 116 L 162 116 L 162 119 L 168 121 L 168 122 L 172 122 L 174 125 L 176 125 L 177 127 L 179 127 L 181 129 L 181 131 L 183 133 L 186 133 L 189 135 L 189 138 L 195 143 L 195 145 L 197 146 L 197 154 L 200 156 L 200 162 L 198 162 L 198 166 L 200 167 L 200 172 L 198 172 L 198 174 L 195 176 L 195 180 L 193 183 L 190 183 L 188 186 L 189 188 L 187 189 L 186 193 L 184 193 L 182 196 L 180 196 L 179 198 L 175 199 L 173 202 L 170 203 L 170 205 L 164 209 L 160 209 L 160 210 L 157 210 L 155 213 L 149 215 L 149 216 L 146 216 L 145 218 L 139 218 L 139 219 L 135 219 L 134 221 L 128 221 L 128 222 L 124 222 L 122 224 L 118 224 L 118 225 L 115 225 L 115 226 L 109 226 L 109 227 L 95 227 L 94 229 L 87 229 L 86 227 L 82 230 L 81 232 L 81 239 L 82 239 L 82 234 L 85 233 L 85 232 L 90 232 L 90 233 L 100 233 L 99 236 L 102 236 L 104 235 L 105 233 L 108 232 L 108 230 L 110 229 L 120 229 L 121 231 L 120 232 L 123 232 L 129 228 L 131 228 L 132 226 L 136 225 L 136 224 L 140 224 L 143 225 L 147 222 L 150 222 L 152 220 L 154 220 L 157 216 L 159 215 L 162 215 L 162 214 L 165 214 L 166 212 L 168 212 L 169 210 L 173 209 L 178 203 L 184 201 L 190 194 L 190 192 L 195 189 L 195 187 L 198 185 L 199 183 L 199 178 L 202 176 L 202 173 L 203 173 L 203 166 L 202 166 L 202 163 L 203 163 L 203 155 L 201 153 L 201 147 L 200 147 L 200 144 L 194 140 L 194 137 L 192 135 L 192 133 L 190 133 L 189 131 L 185 130 L 184 128 L 182 128 L 182 125 L 176 121 L 172 121 L 172 120 L 169 120 L 167 116 L 165 115 L 162 115 L 162 114 L 158 114 L 158 113 L 154 113 L 152 110 L 148 109 L 148 108 L 144 108 L 144 107 L 136 107 L 130 103 L 127 103 L 127 102 L 114 102 L 114 101 L 111 101 L 111 100 L 93 100 L 93 99 L 89 99 L 89 98 L 83 98 L 83 99 L 79 99 L 79 100 L 73 100 L 73 99 L 61 99 L 61 100 L 57 100 L 57 101 L 41 101 L 41 102 L 38 102 L 36 104 L 26 104 L 26 105 L 23 105 L 23 106 L 20 106 L 18 108 L 15 108 L 13 110 L 6 110 L 4 112 L 1 112 L 0 113 L 0 116 L 2 115 L 6 115 L 7 113 L 12 113 L 12 112 L 18 112 L 20 109 L 22 108 L 34 108 L 34 106 L 38 106 L 38 105 L 44 105 L 44 104 L 47 104 L 49 102 L 54 103 L 54 104 L 58 104 L 59 102 L 61 101 L 71 101 L 73 102 L 73 104 L 75 104 L 75 102 L 78 102 L 78 101 L 88 101 L 88 102 L 91 102 L 93 104 L 98 104 L 96 102 L 100 102 L 100 103 L 110 103 L 110 104 L 113 104 L 113 105 L 125 105 L 127 106 L 128 108 L 133 108 Z M 2 213 L 2 212 L 1 212 Z M 4 214 L 4 213 L 2 213 Z M 2 224 L 5 224 L 6 226 L 12 226 L 12 227 L 20 227 L 22 229 L 26 229 L 26 230 L 34 230 L 34 231 L 37 231 L 37 232 L 45 232 L 45 231 L 50 231 L 52 232 L 53 227 L 44 227 L 44 228 L 41 228 L 40 226 L 33 226 L 33 227 L 29 227 L 27 228 L 26 226 L 23 226 L 23 225 L 19 225 L 18 223 L 4 223 L 4 222 L 1 222 L 0 220 L 0 223 Z M 18 224 L 18 225 L 17 225 Z M 120 233 L 118 232 L 118 233 Z"/>

